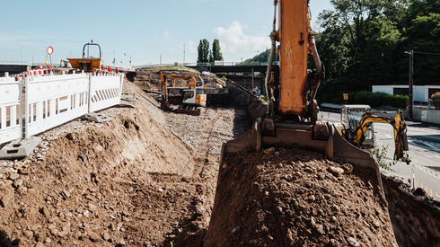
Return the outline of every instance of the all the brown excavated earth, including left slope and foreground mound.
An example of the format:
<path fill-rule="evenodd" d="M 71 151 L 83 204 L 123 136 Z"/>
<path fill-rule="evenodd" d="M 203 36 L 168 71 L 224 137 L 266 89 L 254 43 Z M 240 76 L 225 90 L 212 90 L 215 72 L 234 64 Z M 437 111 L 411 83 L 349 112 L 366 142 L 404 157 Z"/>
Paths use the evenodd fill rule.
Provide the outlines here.
<path fill-rule="evenodd" d="M 123 97 L 136 101 L 121 102 L 134 109 L 102 110 L 113 118 L 105 123 L 75 119 L 40 134 L 24 160 L 0 161 L 0 246 L 397 246 L 392 224 L 408 218 L 400 246 L 439 238 L 422 192 L 413 202 L 385 182 L 398 208 L 389 214 L 368 171 L 321 154 L 268 148 L 220 164 L 222 144 L 251 127 L 246 110 L 163 111 L 144 91 L 157 90 L 157 75 L 127 76 Z M 219 176 L 230 186 L 218 188 Z"/>

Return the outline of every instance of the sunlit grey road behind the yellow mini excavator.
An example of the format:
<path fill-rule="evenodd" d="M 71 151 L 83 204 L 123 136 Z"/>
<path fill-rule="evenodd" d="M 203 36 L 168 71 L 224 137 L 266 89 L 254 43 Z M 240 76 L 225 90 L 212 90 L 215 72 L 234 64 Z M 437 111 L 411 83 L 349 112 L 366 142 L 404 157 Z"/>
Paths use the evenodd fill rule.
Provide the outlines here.
<path fill-rule="evenodd" d="M 339 122 L 340 114 L 337 112 L 321 111 L 319 119 Z M 432 169 L 433 173 L 440 175 L 440 126 L 406 121 L 409 144 L 409 159 L 411 163 Z M 374 123 L 374 135 L 377 145 L 388 146 L 386 160 L 392 162 L 394 154 L 394 137 L 391 125 Z M 402 163 L 399 163 L 402 164 Z"/>

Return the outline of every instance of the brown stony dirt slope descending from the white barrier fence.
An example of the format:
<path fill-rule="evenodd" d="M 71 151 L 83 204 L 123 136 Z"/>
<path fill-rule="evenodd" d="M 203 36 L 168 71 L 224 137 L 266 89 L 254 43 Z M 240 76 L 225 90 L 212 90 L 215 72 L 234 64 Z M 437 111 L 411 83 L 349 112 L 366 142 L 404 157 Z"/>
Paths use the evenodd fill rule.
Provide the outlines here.
<path fill-rule="evenodd" d="M 220 145 L 247 129 L 244 110 L 176 115 L 135 84 L 123 91 L 136 109 L 74 120 L 25 160 L 0 162 L 0 246 L 201 246 Z"/>

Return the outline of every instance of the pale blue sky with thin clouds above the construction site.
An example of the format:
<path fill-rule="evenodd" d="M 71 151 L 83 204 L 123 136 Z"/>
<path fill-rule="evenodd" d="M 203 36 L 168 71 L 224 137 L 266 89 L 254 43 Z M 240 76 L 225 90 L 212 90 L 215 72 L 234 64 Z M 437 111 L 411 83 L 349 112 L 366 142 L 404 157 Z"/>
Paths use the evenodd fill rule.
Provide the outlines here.
<path fill-rule="evenodd" d="M 273 0 L 3 1 L 0 63 L 59 64 L 82 57 L 84 44 L 101 46 L 104 65 L 197 62 L 199 40 L 220 41 L 224 62 L 270 48 Z M 311 0 L 312 26 L 330 0 Z M 48 56 L 48 47 L 54 49 Z M 90 55 L 99 57 L 97 47 Z"/>

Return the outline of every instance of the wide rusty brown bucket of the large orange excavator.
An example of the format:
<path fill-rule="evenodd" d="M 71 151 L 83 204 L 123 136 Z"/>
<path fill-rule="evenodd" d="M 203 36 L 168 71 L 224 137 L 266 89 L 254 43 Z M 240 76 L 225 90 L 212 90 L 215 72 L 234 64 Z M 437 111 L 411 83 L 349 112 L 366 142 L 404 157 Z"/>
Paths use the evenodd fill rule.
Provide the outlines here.
<path fill-rule="evenodd" d="M 220 163 L 223 162 L 224 154 L 238 153 L 247 148 L 255 148 L 260 152 L 261 148 L 270 146 L 295 146 L 324 154 L 331 161 L 355 163 L 372 168 L 383 193 L 381 172 L 374 158 L 348 143 L 331 122 L 316 122 L 315 125 L 275 124 L 274 136 L 261 135 L 264 132 L 263 125 L 261 119 L 257 119 L 242 137 L 224 143 Z"/>

